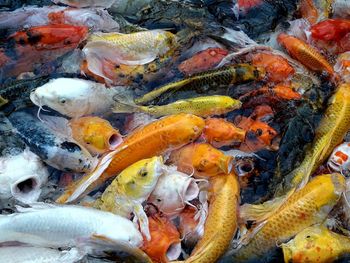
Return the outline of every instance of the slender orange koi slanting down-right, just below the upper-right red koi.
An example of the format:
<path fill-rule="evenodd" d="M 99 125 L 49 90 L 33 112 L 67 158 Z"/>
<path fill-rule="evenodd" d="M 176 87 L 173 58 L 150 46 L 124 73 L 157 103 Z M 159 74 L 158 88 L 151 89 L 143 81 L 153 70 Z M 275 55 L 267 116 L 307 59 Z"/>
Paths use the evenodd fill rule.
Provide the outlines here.
<path fill-rule="evenodd" d="M 277 38 L 278 42 L 288 51 L 288 53 L 310 70 L 327 72 L 330 77 L 334 77 L 333 67 L 329 62 L 313 47 L 296 37 L 281 33 Z"/>

